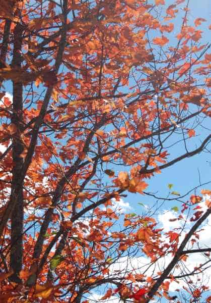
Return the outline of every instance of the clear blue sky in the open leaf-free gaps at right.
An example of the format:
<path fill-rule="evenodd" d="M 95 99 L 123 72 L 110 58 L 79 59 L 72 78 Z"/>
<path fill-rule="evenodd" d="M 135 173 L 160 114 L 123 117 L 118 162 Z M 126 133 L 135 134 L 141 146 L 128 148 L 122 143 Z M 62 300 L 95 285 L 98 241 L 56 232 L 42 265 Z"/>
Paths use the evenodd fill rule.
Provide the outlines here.
<path fill-rule="evenodd" d="M 153 3 L 151 0 L 150 3 Z M 165 6 L 159 6 L 159 9 L 162 9 L 165 13 L 165 9 L 167 6 L 173 4 L 174 1 L 167 0 Z M 184 11 L 182 8 L 185 7 L 186 2 L 180 5 L 180 16 L 184 15 Z M 194 20 L 196 18 L 204 18 L 207 21 L 203 22 L 201 26 L 199 26 L 199 29 L 203 31 L 202 33 L 202 40 L 201 43 L 207 43 L 210 40 L 211 34 L 210 30 L 208 29 L 208 26 L 210 24 L 210 15 L 211 15 L 211 1 L 210 0 L 190 0 L 189 3 L 190 8 L 190 14 L 188 15 L 188 20 L 191 24 L 194 23 Z M 168 38 L 172 42 L 175 42 L 175 35 L 178 32 L 177 26 L 181 26 L 181 19 L 176 18 L 175 19 L 175 28 L 172 33 L 170 33 L 170 36 Z M 193 106 L 194 110 L 196 110 L 196 106 Z M 198 128 L 196 133 L 202 140 L 207 134 L 210 133 L 210 119 L 207 118 L 204 123 L 204 126 L 209 128 L 209 130 L 205 131 L 203 128 Z M 200 145 L 200 140 L 198 141 L 198 138 L 195 139 L 195 142 L 198 142 L 198 145 Z M 192 145 L 192 144 L 191 144 Z M 197 146 L 198 146 L 197 145 Z M 174 148 L 174 155 L 178 157 L 179 155 L 182 155 L 184 152 L 184 149 L 181 148 L 182 146 L 180 144 L 177 144 Z M 190 148 L 190 151 L 194 149 L 194 144 L 192 145 L 192 148 Z M 208 161 L 211 161 L 211 157 L 209 153 L 202 152 L 199 155 L 195 155 L 191 158 L 187 158 L 182 160 L 181 162 L 178 162 L 172 167 L 168 167 L 164 170 L 162 170 L 162 174 L 156 174 L 153 178 L 151 178 L 148 183 L 149 187 L 147 190 L 149 191 L 158 191 L 158 196 L 165 197 L 168 192 L 169 188 L 167 185 L 169 183 L 174 184 L 174 190 L 177 190 L 180 192 L 180 194 L 185 194 L 187 191 L 189 191 L 191 188 L 194 188 L 195 186 L 198 186 L 200 183 L 205 183 L 208 181 L 211 181 L 211 165 L 209 165 Z M 200 181 L 199 181 L 199 175 L 200 175 Z M 203 186 L 202 188 L 210 188 L 210 184 Z M 173 196 L 172 196 L 173 197 Z M 133 205 L 135 205 L 135 201 L 142 200 L 144 203 L 148 204 L 150 199 L 148 196 L 141 196 L 139 194 L 128 194 L 128 197 L 125 199 L 129 202 L 129 200 L 132 199 Z M 174 203 L 175 204 L 175 203 Z M 166 206 L 168 207 L 168 205 Z M 138 209 L 137 209 L 138 210 Z"/>

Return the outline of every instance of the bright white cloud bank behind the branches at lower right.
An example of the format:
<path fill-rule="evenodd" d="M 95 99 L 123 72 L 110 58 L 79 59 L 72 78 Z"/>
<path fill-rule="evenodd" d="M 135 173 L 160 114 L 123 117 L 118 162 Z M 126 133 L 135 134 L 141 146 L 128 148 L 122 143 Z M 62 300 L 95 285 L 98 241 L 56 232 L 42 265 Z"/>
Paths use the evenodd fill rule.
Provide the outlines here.
<path fill-rule="evenodd" d="M 205 199 L 201 203 L 202 210 L 205 211 L 207 207 L 205 206 Z M 184 239 L 185 234 L 190 230 L 191 226 L 194 224 L 194 222 L 191 222 L 190 220 L 176 220 L 176 221 L 169 221 L 169 219 L 176 219 L 178 217 L 178 214 L 174 211 L 164 211 L 163 214 L 160 214 L 158 216 L 158 222 L 160 223 L 161 227 L 163 228 L 163 237 L 162 240 L 169 243 L 169 237 L 166 237 L 165 232 L 169 232 L 170 230 L 173 230 L 176 228 L 175 232 L 178 234 L 180 233 L 180 240 L 179 243 Z M 210 216 L 211 217 L 211 216 Z M 208 218 L 206 222 L 204 222 L 197 231 L 197 234 L 199 235 L 199 248 L 204 247 L 210 247 L 211 243 L 211 233 L 210 233 L 210 226 L 211 226 L 211 218 Z M 183 229 L 184 222 L 186 223 L 185 228 Z M 200 231 L 201 229 L 201 231 Z M 194 237 L 193 237 L 194 238 Z M 197 242 L 193 245 L 189 242 L 189 244 L 186 246 L 185 249 L 194 249 L 198 248 Z M 181 276 L 184 274 L 189 274 L 194 270 L 195 267 L 200 267 L 201 264 L 208 261 L 208 258 L 204 256 L 201 253 L 193 253 L 188 254 L 188 258 L 186 262 L 182 261 L 178 263 L 178 267 L 175 267 L 172 271 L 172 274 L 174 276 Z M 118 275 L 119 277 L 126 276 L 129 272 L 135 273 L 135 274 L 143 274 L 145 272 L 146 276 L 148 277 L 156 277 L 158 272 L 163 272 L 163 270 L 168 266 L 168 264 L 172 260 L 172 254 L 168 254 L 165 256 L 165 258 L 160 258 L 156 263 L 152 263 L 151 260 L 146 257 L 136 257 L 136 258 L 130 258 L 123 257 L 114 264 L 112 264 L 109 268 L 109 275 Z M 151 266 L 150 266 L 151 265 Z M 211 288 L 211 279 L 209 279 L 210 274 L 208 270 L 205 270 L 203 274 L 193 275 L 190 277 L 187 277 L 186 281 L 178 280 L 177 282 L 172 282 L 170 284 L 169 290 L 171 292 L 175 291 L 176 289 L 182 289 L 183 286 L 187 286 L 187 281 L 192 280 L 195 285 L 197 283 L 201 283 L 201 281 L 198 281 L 198 277 L 202 277 L 202 283 L 204 285 L 207 285 Z M 137 283 L 136 283 L 137 284 Z M 145 285 L 144 282 L 140 283 L 140 286 Z"/>

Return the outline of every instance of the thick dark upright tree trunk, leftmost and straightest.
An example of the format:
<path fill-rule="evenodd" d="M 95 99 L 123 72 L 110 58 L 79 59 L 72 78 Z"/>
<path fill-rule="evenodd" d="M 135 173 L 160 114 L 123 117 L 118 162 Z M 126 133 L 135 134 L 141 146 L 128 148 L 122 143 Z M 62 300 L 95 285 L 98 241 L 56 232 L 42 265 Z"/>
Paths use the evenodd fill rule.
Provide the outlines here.
<path fill-rule="evenodd" d="M 17 24 L 14 30 L 14 51 L 13 67 L 21 67 L 21 46 L 23 29 Z M 10 280 L 20 283 L 19 272 L 22 269 L 23 259 L 23 218 L 24 218 L 24 197 L 23 181 L 21 180 L 21 171 L 23 168 L 24 144 L 21 138 L 23 132 L 23 84 L 13 82 L 13 116 L 11 122 L 16 127 L 16 133 L 13 135 L 13 169 L 12 169 L 12 191 L 11 200 L 14 205 L 11 216 L 11 258 L 10 265 L 14 274 Z"/>

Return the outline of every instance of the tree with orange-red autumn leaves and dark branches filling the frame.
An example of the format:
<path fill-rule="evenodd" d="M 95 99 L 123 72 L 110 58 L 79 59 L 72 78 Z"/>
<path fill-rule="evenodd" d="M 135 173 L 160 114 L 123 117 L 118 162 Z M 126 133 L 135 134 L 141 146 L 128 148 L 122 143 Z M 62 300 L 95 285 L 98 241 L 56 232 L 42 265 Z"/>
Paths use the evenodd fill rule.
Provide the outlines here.
<path fill-rule="evenodd" d="M 180 302 L 170 283 L 209 266 L 199 229 L 210 191 L 202 191 L 206 206 L 202 195 L 183 201 L 172 192 L 183 201 L 173 219 L 182 227 L 166 239 L 158 205 L 124 220 L 118 209 L 128 192 L 153 195 L 147 179 L 208 150 L 205 128 L 196 134 L 210 116 L 210 44 L 200 43 L 205 19 L 189 24 L 188 5 L 1 1 L 1 302 L 85 303 L 97 287 L 105 300 Z M 206 261 L 184 269 L 196 253 Z M 114 270 L 141 254 L 155 266 L 150 276 L 128 263 Z M 158 272 L 164 257 L 169 265 Z M 210 302 L 203 283 L 189 282 L 184 302 Z"/>

